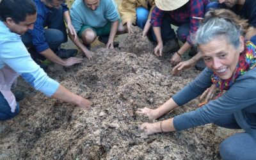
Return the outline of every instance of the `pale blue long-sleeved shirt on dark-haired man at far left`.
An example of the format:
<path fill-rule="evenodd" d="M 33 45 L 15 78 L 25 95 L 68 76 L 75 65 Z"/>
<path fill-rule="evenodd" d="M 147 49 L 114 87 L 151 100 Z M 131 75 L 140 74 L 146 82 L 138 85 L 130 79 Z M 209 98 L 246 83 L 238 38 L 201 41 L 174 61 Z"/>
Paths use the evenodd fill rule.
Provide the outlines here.
<path fill-rule="evenodd" d="M 45 95 L 51 96 L 56 92 L 60 84 L 49 78 L 44 70 L 32 60 L 20 35 L 10 31 L 2 21 L 0 21 L 0 46 L 0 69 L 8 65 L 31 86 Z M 4 83 L 6 82 L 1 82 L 1 84 Z"/>

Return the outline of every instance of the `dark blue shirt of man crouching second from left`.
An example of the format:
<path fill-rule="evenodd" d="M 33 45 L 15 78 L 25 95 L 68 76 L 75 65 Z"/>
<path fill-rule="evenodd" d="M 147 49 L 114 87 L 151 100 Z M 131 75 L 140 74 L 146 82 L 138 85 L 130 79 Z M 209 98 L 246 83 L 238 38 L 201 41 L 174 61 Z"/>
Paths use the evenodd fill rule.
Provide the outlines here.
<path fill-rule="evenodd" d="M 49 49 L 49 44 L 45 39 L 45 20 L 49 14 L 51 14 L 51 10 L 45 6 L 45 4 L 40 0 L 34 0 L 36 4 L 37 17 L 36 22 L 34 24 L 34 29 L 29 30 L 28 32 L 32 36 L 32 44 L 34 45 L 37 52 L 45 51 Z M 67 4 L 61 4 L 63 8 L 63 13 L 68 11 Z"/>

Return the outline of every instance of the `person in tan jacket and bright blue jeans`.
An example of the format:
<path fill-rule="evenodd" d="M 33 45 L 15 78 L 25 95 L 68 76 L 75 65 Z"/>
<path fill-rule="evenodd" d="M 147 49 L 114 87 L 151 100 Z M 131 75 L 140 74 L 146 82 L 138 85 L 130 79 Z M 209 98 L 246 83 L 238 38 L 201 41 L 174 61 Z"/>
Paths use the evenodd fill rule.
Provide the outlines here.
<path fill-rule="evenodd" d="M 154 0 L 122 0 L 119 13 L 128 33 L 132 32 L 131 25 L 134 24 L 143 29 L 143 36 L 146 36 L 151 27 L 150 19 L 155 6 Z"/>

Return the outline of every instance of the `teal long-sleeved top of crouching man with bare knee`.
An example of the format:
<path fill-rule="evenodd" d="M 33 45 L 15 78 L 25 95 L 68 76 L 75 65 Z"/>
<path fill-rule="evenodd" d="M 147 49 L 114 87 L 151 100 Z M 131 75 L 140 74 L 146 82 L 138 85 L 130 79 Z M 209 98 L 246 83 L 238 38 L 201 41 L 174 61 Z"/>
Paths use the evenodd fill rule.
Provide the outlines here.
<path fill-rule="evenodd" d="M 120 19 L 114 0 L 99 0 L 99 6 L 94 11 L 88 8 L 83 0 L 76 0 L 70 9 L 70 17 L 77 32 L 83 25 L 102 28 L 108 21 Z"/>

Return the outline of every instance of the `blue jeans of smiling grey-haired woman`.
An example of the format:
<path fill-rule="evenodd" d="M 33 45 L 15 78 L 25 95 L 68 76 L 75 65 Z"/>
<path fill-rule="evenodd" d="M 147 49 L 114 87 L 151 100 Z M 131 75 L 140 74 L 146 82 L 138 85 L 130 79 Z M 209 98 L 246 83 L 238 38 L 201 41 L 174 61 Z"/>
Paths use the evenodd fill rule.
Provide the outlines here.
<path fill-rule="evenodd" d="M 214 124 L 229 129 L 241 129 L 234 115 L 220 118 Z M 256 142 L 246 132 L 234 134 L 221 142 L 220 155 L 222 159 L 255 159 Z"/>

